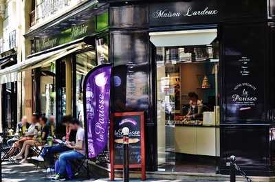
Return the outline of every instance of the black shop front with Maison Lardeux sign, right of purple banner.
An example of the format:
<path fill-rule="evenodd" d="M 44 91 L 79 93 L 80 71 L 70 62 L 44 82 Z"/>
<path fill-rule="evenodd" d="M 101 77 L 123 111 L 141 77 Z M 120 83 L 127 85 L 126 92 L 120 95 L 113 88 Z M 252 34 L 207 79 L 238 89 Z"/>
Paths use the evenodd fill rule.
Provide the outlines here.
<path fill-rule="evenodd" d="M 108 1 L 113 112 L 144 111 L 148 171 L 273 176 L 275 1 Z"/>

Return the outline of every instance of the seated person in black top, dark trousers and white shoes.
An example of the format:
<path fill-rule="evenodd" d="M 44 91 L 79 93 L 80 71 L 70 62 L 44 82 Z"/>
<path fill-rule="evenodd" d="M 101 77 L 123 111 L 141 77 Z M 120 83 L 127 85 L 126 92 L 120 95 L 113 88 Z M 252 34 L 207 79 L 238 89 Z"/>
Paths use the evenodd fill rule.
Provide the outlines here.
<path fill-rule="evenodd" d="M 36 161 L 44 161 L 45 157 L 49 160 L 50 166 L 54 166 L 54 154 L 66 152 L 68 150 L 72 150 L 72 148 L 68 148 L 66 146 L 69 141 L 75 141 L 76 140 L 76 131 L 71 130 L 69 128 L 69 122 L 73 119 L 71 115 L 65 115 L 62 120 L 62 125 L 65 127 L 65 137 L 63 137 L 63 141 L 65 141 L 65 144 L 58 144 L 57 146 L 49 146 L 45 147 L 43 151 L 41 152 L 41 155 L 38 157 L 32 157 L 32 159 Z M 63 133 L 63 132 L 62 132 Z M 51 169 L 47 169 L 47 171 L 50 172 Z"/>

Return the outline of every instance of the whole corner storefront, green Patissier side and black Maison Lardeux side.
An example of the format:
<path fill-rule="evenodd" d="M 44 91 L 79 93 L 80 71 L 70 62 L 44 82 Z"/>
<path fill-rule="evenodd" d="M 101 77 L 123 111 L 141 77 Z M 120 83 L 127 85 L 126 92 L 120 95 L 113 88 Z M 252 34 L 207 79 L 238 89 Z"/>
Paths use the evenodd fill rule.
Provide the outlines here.
<path fill-rule="evenodd" d="M 29 113 L 83 121 L 84 77 L 111 62 L 111 112 L 145 113 L 146 170 L 228 174 L 235 155 L 274 176 L 274 14 L 272 0 L 83 1 L 31 28 L 32 53 L 0 76 L 28 71 Z"/>

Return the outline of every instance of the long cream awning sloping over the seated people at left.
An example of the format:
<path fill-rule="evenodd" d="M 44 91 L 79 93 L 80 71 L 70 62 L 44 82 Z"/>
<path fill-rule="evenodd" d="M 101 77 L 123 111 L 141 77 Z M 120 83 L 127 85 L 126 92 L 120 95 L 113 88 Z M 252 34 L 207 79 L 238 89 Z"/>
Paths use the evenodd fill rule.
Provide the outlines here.
<path fill-rule="evenodd" d="M 12 65 L 5 69 L 0 70 L 0 83 L 1 80 L 7 80 L 5 82 L 10 82 L 7 78 L 9 76 L 16 76 L 17 73 L 21 71 L 25 71 L 27 69 L 34 69 L 36 67 L 43 67 L 43 65 L 47 65 L 54 60 L 58 60 L 67 56 L 68 54 L 72 54 L 72 52 L 76 52 L 79 49 L 83 49 L 85 43 L 79 43 L 75 45 L 70 45 L 69 47 L 65 47 L 63 49 L 58 49 L 56 51 L 48 52 L 45 54 L 41 54 L 39 56 L 34 56 L 29 58 L 23 62 L 18 62 L 16 65 Z"/>

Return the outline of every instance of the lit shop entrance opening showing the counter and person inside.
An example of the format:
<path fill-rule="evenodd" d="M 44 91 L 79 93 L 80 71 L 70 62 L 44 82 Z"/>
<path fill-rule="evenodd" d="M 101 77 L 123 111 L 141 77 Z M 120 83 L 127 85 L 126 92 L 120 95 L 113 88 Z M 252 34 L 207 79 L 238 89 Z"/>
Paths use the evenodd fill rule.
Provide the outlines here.
<path fill-rule="evenodd" d="M 177 46 L 155 47 L 160 171 L 216 172 L 219 41 L 217 33 L 212 32 L 214 34 L 199 32 L 195 36 L 193 32 L 180 32 L 174 40 L 175 34 L 171 35 L 170 42 L 166 41 Z M 210 42 L 199 44 L 198 37 Z M 151 41 L 163 43 L 152 37 Z"/>

